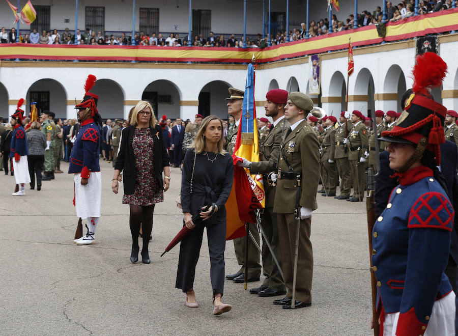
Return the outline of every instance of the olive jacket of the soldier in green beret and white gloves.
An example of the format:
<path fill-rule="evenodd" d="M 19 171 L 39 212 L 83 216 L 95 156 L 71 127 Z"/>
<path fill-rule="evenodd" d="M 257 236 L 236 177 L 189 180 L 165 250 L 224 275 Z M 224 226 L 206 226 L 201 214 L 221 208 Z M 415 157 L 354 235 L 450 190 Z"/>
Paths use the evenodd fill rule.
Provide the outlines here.
<path fill-rule="evenodd" d="M 294 173 L 302 174 L 300 185 L 299 205 L 315 210 L 317 205 L 318 180 L 320 179 L 319 143 L 317 135 L 304 119 L 288 136 L 283 138 L 278 169 L 290 172 L 285 158 L 290 163 Z M 281 148 L 280 148 L 281 151 Z M 294 213 L 296 210 L 297 181 L 277 179 L 275 190 L 274 212 Z"/>

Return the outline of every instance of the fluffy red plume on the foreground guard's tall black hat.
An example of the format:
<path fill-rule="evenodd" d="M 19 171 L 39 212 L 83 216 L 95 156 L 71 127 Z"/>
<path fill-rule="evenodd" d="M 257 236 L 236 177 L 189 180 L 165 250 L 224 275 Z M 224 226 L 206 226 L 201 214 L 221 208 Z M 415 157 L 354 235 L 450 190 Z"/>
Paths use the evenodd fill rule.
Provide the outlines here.
<path fill-rule="evenodd" d="M 418 55 L 412 70 L 414 83 L 412 90 L 416 94 L 431 96 L 428 89 L 440 87 L 447 73 L 447 64 L 434 52 Z"/>

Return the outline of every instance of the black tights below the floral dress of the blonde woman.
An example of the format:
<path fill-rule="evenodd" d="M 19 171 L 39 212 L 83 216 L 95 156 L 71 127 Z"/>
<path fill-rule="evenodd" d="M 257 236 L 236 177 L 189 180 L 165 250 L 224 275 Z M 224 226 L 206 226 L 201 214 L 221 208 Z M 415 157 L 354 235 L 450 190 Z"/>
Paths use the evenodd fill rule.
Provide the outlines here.
<path fill-rule="evenodd" d="M 153 205 L 130 205 L 130 233 L 132 234 L 132 248 L 138 249 L 138 235 L 140 233 L 140 222 L 143 229 L 143 247 L 142 251 L 148 251 L 151 231 L 153 230 Z"/>

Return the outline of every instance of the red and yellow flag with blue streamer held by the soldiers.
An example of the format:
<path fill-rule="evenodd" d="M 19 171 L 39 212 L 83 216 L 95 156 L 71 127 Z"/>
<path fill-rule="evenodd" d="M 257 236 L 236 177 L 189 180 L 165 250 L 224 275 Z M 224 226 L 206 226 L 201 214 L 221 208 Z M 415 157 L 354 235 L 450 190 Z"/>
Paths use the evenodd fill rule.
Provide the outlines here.
<path fill-rule="evenodd" d="M 245 236 L 245 222 L 256 222 L 254 210 L 264 208 L 266 194 L 262 175 L 250 175 L 247 168 L 237 166 L 243 157 L 251 162 L 259 161 L 259 134 L 257 132 L 254 104 L 254 67 L 250 63 L 243 95 L 237 141 L 234 147 L 234 183 L 226 202 L 226 240 Z"/>

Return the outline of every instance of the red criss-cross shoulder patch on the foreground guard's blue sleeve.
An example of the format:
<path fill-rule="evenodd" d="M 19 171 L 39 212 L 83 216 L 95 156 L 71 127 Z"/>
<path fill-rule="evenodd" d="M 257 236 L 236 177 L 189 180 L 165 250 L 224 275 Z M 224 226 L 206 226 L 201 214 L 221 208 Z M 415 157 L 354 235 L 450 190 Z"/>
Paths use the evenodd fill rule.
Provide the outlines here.
<path fill-rule="evenodd" d="M 454 211 L 440 192 L 427 192 L 418 198 L 409 214 L 408 228 L 436 228 L 452 231 Z"/>

